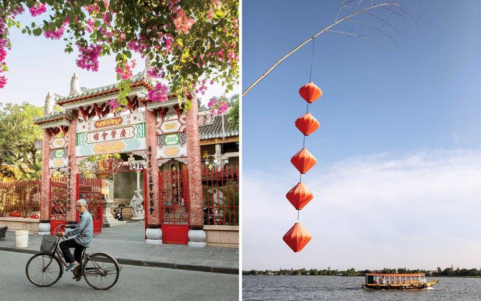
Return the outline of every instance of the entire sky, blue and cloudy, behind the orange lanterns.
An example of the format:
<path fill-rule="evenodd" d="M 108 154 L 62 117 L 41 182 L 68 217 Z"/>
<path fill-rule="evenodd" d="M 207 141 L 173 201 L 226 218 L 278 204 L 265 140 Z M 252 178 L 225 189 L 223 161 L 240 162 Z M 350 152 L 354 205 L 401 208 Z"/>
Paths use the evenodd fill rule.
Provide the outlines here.
<path fill-rule="evenodd" d="M 340 2 L 245 0 L 243 90 L 331 24 Z M 475 255 L 481 223 L 472 213 L 481 209 L 480 4 L 398 3 L 416 23 L 379 13 L 399 30 L 393 36 L 399 46 L 376 33 L 369 37 L 384 50 L 335 33 L 316 39 L 312 81 L 323 96 L 310 112 L 321 126 L 306 138 L 306 147 L 318 164 L 303 177 L 315 198 L 300 218 L 314 238 L 299 254 L 282 236 L 296 221 L 285 194 L 299 179 L 289 160 L 302 147 L 294 121 L 305 112 L 298 89 L 309 81 L 312 44 L 244 97 L 244 269 L 481 264 Z M 352 24 L 340 26 L 349 31 Z M 386 235 L 387 229 L 403 229 L 405 221 L 418 223 L 415 234 Z M 445 222 L 433 227 L 433 221 Z M 435 258 L 369 256 L 419 251 L 414 245 Z"/>

